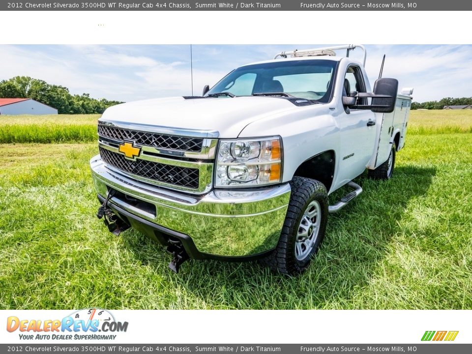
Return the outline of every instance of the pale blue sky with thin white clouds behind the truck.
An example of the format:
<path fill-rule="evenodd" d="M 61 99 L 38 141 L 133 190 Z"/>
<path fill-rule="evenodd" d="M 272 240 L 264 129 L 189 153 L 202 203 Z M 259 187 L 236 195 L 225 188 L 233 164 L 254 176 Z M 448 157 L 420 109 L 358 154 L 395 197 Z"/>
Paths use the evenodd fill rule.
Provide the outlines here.
<path fill-rule="evenodd" d="M 193 45 L 193 93 L 237 66 L 281 51 L 328 45 Z M 366 45 L 371 87 L 383 77 L 413 87 L 413 100 L 472 96 L 472 45 Z M 345 50 L 337 55 L 345 55 Z M 356 54 L 357 52 L 357 54 Z M 360 59 L 360 50 L 352 57 Z M 0 45 L 0 80 L 30 76 L 72 94 L 135 101 L 192 93 L 190 45 Z"/>

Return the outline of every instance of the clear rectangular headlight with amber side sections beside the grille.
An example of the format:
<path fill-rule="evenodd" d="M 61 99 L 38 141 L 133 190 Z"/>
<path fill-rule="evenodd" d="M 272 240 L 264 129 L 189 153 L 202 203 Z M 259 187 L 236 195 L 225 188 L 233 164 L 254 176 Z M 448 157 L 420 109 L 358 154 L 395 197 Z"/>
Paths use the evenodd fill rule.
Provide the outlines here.
<path fill-rule="evenodd" d="M 244 187 L 281 181 L 280 137 L 220 141 L 216 160 L 216 187 Z"/>

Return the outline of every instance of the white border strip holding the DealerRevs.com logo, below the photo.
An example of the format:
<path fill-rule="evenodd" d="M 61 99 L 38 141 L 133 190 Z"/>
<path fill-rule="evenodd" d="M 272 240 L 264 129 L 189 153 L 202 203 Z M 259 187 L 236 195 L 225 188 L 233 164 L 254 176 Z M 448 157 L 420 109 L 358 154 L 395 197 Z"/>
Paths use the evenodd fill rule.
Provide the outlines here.
<path fill-rule="evenodd" d="M 21 341 L 18 336 L 21 333 L 19 330 L 6 332 L 7 317 L 16 316 L 20 320 L 61 320 L 72 312 L 74 311 L 2 310 L 0 343 L 64 343 L 42 340 Z M 472 310 L 116 310 L 110 312 L 116 321 L 127 321 L 128 330 L 125 333 L 118 333 L 115 341 L 106 341 L 107 343 L 413 344 L 421 343 L 421 337 L 426 330 L 458 330 L 459 334 L 453 343 L 472 343 L 470 330 Z M 95 332 L 95 334 L 114 333 Z M 440 343 L 448 344 L 448 342 Z"/>

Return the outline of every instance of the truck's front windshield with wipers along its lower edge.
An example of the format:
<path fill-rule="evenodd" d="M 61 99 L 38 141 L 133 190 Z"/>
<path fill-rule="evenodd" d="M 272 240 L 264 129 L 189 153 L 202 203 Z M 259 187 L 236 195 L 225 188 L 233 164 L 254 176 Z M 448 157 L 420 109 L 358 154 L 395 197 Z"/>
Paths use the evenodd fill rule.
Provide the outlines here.
<path fill-rule="evenodd" d="M 206 96 L 221 92 L 236 96 L 286 93 L 327 103 L 336 64 L 334 60 L 280 60 L 242 66 L 225 76 Z"/>

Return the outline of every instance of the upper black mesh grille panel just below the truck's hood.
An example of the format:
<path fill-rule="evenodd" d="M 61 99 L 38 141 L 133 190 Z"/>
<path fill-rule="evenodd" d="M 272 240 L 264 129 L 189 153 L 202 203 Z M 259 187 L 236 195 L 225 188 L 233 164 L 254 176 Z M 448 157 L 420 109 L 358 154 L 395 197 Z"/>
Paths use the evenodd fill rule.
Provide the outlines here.
<path fill-rule="evenodd" d="M 141 146 L 192 152 L 201 151 L 204 141 L 202 138 L 158 134 L 102 124 L 98 124 L 98 135 L 119 141 L 131 140 Z"/>

